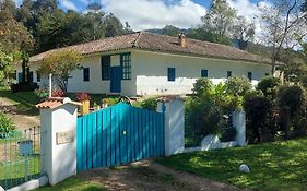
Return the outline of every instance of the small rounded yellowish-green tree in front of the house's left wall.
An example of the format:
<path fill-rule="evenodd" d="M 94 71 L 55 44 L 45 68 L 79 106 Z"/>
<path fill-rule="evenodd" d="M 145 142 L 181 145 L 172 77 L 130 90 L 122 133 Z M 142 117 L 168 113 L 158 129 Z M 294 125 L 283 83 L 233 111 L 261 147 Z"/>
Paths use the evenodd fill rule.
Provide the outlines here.
<path fill-rule="evenodd" d="M 70 73 L 79 68 L 82 56 L 76 51 L 60 50 L 43 59 L 39 72 L 43 75 L 51 73 L 58 87 L 67 93 Z"/>

